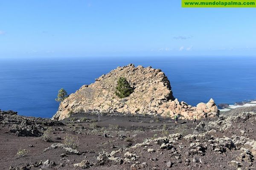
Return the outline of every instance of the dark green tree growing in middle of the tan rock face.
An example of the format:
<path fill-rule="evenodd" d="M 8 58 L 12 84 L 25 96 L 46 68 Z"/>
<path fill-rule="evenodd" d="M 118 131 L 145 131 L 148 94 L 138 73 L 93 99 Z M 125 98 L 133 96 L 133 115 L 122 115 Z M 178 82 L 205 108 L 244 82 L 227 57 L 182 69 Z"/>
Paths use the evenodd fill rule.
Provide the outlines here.
<path fill-rule="evenodd" d="M 125 77 L 119 77 L 117 84 L 117 91 L 115 91 L 115 94 L 121 99 L 130 96 L 130 94 L 134 92 L 134 89 L 130 86 L 129 82 L 125 79 Z"/>

